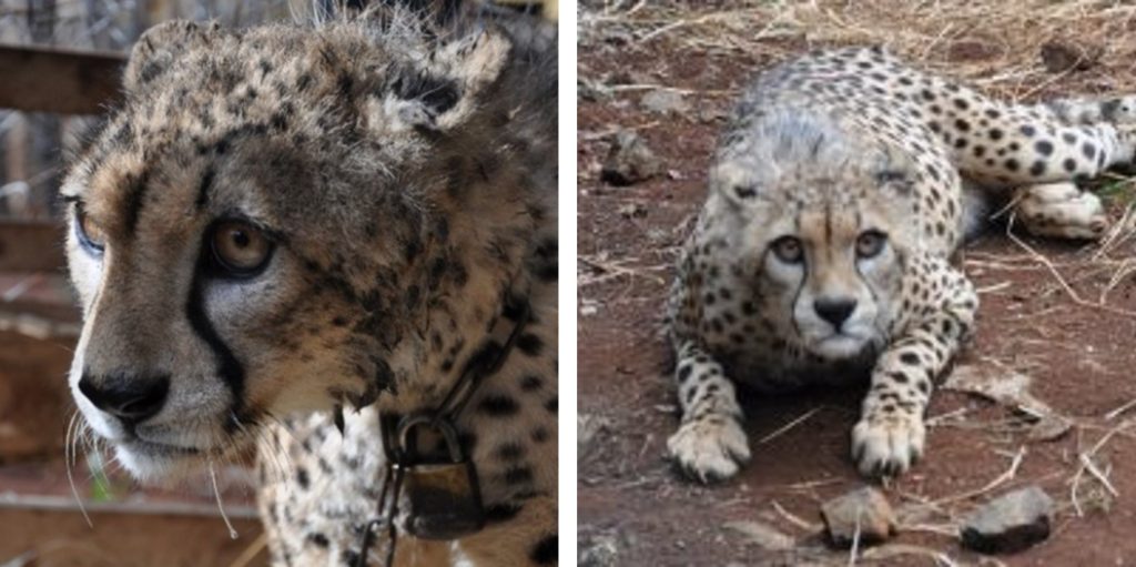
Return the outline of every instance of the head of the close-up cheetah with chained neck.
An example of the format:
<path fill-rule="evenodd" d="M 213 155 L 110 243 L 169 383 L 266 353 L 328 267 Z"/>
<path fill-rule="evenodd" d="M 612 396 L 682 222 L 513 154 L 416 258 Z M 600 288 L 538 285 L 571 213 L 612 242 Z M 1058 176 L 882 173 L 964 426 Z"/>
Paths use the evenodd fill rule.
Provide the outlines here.
<path fill-rule="evenodd" d="M 429 25 L 175 22 L 137 42 L 61 190 L 84 314 L 69 383 L 135 476 L 181 476 L 287 412 L 415 395 L 442 374 L 441 326 L 484 328 L 533 224 L 507 128 L 536 112 L 498 102 L 519 73 L 504 32 Z"/>

